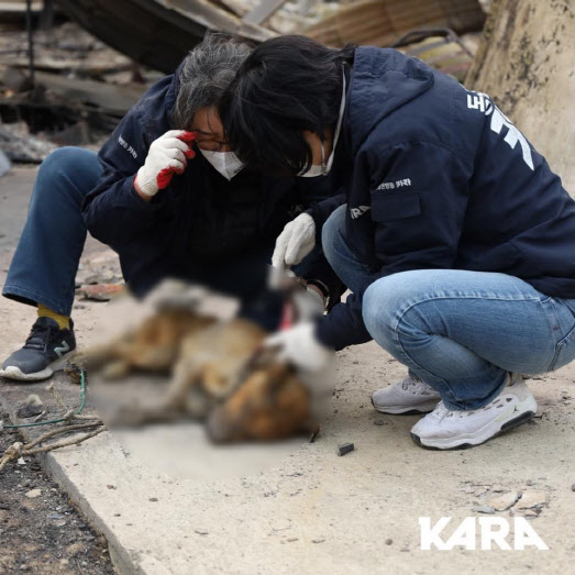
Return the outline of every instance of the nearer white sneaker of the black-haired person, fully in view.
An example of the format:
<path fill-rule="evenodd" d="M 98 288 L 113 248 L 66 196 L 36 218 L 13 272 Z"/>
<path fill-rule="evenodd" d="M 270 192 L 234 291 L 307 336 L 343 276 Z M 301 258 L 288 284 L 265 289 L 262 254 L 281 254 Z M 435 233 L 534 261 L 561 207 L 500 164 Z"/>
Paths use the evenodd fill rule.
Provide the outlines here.
<path fill-rule="evenodd" d="M 490 403 L 475 411 L 453 411 L 443 401 L 411 428 L 421 447 L 436 450 L 479 445 L 499 433 L 524 423 L 537 413 L 537 401 L 519 374 Z"/>

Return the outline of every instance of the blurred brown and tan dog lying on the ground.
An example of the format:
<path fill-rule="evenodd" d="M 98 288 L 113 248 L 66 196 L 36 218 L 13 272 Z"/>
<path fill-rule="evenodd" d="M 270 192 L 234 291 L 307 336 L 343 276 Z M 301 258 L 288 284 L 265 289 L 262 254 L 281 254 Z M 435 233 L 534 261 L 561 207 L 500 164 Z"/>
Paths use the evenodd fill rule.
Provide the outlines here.
<path fill-rule="evenodd" d="M 118 424 L 192 418 L 220 443 L 269 441 L 317 428 L 309 387 L 296 369 L 263 349 L 267 333 L 242 318 L 219 320 L 166 295 L 136 329 L 88 353 L 89 371 L 104 379 L 166 374 L 154 406 L 120 406 Z M 176 290 L 177 291 L 177 290 Z"/>

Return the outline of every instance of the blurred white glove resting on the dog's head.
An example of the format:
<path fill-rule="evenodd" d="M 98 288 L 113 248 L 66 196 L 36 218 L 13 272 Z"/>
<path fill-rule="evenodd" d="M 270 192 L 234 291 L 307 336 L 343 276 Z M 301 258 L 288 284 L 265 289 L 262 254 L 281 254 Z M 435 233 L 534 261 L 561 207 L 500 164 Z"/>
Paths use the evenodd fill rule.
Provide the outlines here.
<path fill-rule="evenodd" d="M 314 335 L 316 323 L 302 322 L 288 330 L 269 335 L 266 347 L 279 346 L 278 358 L 292 363 L 308 372 L 319 372 L 325 367 L 333 351 L 322 345 Z"/>

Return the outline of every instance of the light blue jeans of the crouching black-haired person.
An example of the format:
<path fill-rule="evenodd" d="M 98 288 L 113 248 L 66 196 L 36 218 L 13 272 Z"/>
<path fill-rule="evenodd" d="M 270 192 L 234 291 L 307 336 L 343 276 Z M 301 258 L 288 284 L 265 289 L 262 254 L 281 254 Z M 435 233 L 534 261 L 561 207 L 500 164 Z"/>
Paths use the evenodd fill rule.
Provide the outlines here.
<path fill-rule="evenodd" d="M 338 208 L 322 230 L 328 261 L 352 291 L 368 286 L 367 331 L 449 408 L 489 403 L 508 372 L 541 374 L 575 360 L 575 299 L 485 272 L 418 269 L 377 279 L 345 241 L 345 210 Z"/>

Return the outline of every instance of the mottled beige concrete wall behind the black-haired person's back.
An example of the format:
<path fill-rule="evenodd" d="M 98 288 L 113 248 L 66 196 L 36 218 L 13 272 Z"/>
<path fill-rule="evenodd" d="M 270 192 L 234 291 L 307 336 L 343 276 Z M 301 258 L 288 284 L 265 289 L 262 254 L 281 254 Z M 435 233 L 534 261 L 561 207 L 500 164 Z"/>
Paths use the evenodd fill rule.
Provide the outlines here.
<path fill-rule="evenodd" d="M 575 197 L 574 0 L 496 0 L 465 85 L 496 100 Z"/>

